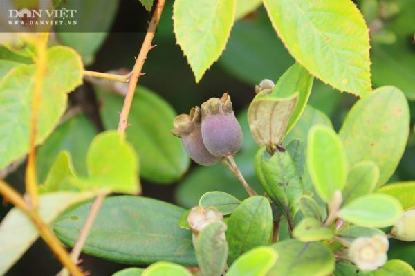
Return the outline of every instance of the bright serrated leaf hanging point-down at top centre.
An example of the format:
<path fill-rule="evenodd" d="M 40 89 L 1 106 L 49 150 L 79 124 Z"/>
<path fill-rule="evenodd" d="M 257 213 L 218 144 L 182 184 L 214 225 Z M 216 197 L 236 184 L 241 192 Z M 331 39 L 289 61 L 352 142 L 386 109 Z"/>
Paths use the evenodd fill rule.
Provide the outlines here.
<path fill-rule="evenodd" d="M 235 0 L 174 1 L 174 33 L 196 82 L 221 56 L 234 16 Z"/>

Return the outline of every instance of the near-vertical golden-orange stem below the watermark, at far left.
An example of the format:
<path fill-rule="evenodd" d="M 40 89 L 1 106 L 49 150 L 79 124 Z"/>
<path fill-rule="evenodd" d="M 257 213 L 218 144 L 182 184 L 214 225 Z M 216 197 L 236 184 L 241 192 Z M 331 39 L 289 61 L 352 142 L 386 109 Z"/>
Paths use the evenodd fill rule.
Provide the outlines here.
<path fill-rule="evenodd" d="M 46 69 L 46 44 L 49 33 L 39 33 L 36 39 L 37 57 L 35 59 L 36 73 L 33 84 L 32 117 L 30 120 L 29 153 L 26 165 L 26 192 L 30 195 L 31 208 L 37 208 L 39 203 L 37 195 L 37 174 L 36 174 L 36 136 L 37 119 L 39 117 L 40 97 Z"/>

